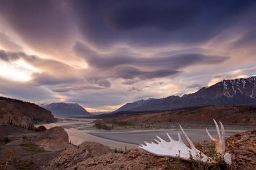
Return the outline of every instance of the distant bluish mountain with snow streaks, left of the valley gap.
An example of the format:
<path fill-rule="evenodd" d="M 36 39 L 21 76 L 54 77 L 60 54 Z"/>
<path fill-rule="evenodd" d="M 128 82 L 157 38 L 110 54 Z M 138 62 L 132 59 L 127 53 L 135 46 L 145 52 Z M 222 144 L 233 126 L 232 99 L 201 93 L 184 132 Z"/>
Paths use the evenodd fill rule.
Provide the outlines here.
<path fill-rule="evenodd" d="M 55 116 L 92 116 L 78 103 L 50 103 L 40 104 L 41 107 L 50 110 Z"/>

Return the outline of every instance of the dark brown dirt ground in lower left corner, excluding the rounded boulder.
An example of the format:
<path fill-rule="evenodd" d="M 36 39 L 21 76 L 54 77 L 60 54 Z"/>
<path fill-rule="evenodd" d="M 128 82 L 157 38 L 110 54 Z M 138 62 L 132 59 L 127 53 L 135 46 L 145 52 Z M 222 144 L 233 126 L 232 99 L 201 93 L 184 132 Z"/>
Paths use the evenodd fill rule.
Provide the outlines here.
<path fill-rule="evenodd" d="M 8 170 L 43 169 L 48 162 L 57 157 L 60 152 L 46 152 L 33 144 L 38 134 L 11 125 L 0 126 L 0 169 L 4 169 L 7 160 Z M 23 139 L 23 135 L 26 135 L 26 139 Z M 6 143 L 6 137 L 13 140 Z M 10 156 L 11 159 L 8 159 Z"/>

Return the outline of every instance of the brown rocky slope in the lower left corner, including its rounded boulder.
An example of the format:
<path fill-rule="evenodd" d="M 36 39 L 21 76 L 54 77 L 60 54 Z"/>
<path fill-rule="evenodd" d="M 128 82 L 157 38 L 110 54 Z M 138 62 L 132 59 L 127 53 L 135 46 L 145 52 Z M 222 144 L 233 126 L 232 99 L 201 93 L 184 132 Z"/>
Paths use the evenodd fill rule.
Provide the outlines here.
<path fill-rule="evenodd" d="M 39 132 L 40 131 L 40 132 Z M 0 170 L 44 169 L 61 151 L 75 148 L 60 127 L 34 130 L 0 125 Z"/>

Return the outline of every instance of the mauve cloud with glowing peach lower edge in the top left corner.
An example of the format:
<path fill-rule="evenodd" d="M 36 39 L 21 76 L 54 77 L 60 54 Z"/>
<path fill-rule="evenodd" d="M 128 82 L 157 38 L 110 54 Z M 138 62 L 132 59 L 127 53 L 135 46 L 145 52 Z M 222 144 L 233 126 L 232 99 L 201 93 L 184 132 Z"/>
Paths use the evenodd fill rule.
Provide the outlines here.
<path fill-rule="evenodd" d="M 33 49 L 57 53 L 75 35 L 68 1 L 1 1 L 0 15 Z"/>

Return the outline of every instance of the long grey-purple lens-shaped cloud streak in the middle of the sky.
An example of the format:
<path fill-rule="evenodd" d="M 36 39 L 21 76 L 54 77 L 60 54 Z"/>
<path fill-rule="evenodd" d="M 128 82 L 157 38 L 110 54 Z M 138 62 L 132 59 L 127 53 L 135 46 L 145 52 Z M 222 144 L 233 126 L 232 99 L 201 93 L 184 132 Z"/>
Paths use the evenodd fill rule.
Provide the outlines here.
<path fill-rule="evenodd" d="M 142 80 L 174 75 L 180 72 L 178 69 L 190 65 L 219 64 L 229 59 L 229 57 L 202 54 L 174 55 L 173 52 L 157 53 L 151 57 L 145 57 L 127 49 L 110 54 L 99 54 L 81 42 L 74 45 L 74 51 L 78 56 L 83 57 L 91 67 L 102 72 L 112 70 L 112 74 L 114 71 L 117 78 L 140 78 Z"/>

